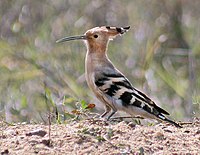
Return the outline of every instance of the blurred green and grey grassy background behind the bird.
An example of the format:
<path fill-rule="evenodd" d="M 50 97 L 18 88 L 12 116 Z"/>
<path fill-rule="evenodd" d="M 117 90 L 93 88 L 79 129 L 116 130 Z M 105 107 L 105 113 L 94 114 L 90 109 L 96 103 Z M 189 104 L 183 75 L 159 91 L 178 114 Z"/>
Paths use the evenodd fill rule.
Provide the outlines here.
<path fill-rule="evenodd" d="M 103 107 L 84 77 L 81 41 L 56 44 L 95 26 L 131 26 L 109 44 L 109 58 L 132 84 L 177 120 L 200 117 L 200 1 L 1 0 L 0 116 L 47 119 L 77 101 Z"/>

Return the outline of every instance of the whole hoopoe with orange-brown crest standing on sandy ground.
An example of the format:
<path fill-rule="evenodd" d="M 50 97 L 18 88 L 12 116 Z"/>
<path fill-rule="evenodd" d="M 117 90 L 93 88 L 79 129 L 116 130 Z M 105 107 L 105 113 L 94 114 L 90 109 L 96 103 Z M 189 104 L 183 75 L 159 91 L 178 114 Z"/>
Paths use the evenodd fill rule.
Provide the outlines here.
<path fill-rule="evenodd" d="M 56 41 L 62 43 L 71 40 L 83 40 L 87 53 L 85 58 L 85 76 L 89 88 L 104 105 L 101 118 L 107 120 L 117 112 L 124 111 L 131 116 L 142 116 L 161 122 L 168 122 L 181 128 L 169 119 L 167 111 L 160 108 L 145 93 L 133 87 L 131 82 L 120 72 L 107 56 L 110 40 L 125 34 L 130 26 L 98 26 L 87 30 L 84 35 L 64 37 Z"/>

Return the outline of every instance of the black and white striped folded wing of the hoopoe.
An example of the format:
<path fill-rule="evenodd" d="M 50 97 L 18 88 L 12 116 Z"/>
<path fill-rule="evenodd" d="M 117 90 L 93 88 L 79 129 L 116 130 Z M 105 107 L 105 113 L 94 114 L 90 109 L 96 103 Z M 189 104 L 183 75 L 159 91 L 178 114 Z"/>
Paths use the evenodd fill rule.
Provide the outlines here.
<path fill-rule="evenodd" d="M 95 85 L 99 91 L 116 100 L 121 100 L 123 106 L 136 106 L 160 118 L 160 114 L 169 115 L 158 107 L 144 93 L 135 89 L 122 74 L 103 74 L 95 78 Z"/>

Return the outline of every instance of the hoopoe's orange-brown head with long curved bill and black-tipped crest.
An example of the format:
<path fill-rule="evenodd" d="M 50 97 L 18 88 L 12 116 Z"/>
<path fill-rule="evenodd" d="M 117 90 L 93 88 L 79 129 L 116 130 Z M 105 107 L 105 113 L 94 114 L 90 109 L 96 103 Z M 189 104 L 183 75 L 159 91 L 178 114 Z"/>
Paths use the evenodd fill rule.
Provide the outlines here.
<path fill-rule="evenodd" d="M 91 49 L 106 47 L 109 40 L 118 35 L 122 35 L 130 29 L 127 27 L 101 26 L 95 27 L 85 32 L 84 35 L 64 37 L 57 40 L 57 43 L 71 40 L 85 40 L 86 46 Z"/>

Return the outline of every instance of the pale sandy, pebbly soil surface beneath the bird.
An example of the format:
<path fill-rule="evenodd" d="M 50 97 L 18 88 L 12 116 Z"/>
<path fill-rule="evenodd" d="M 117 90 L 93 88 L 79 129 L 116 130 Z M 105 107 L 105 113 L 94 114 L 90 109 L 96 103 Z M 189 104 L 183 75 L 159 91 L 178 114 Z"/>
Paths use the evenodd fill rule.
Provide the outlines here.
<path fill-rule="evenodd" d="M 200 154 L 200 119 L 182 126 L 91 119 L 54 124 L 49 132 L 48 125 L 11 126 L 0 122 L 0 152 L 12 155 Z"/>

